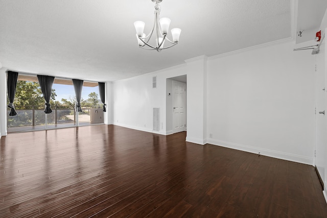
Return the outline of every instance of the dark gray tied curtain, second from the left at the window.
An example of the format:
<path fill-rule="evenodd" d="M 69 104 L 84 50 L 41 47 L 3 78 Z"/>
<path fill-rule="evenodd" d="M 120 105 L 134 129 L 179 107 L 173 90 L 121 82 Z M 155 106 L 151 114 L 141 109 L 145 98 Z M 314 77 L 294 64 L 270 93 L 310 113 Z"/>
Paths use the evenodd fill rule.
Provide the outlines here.
<path fill-rule="evenodd" d="M 45 100 L 44 113 L 52 113 L 49 102 L 51 99 L 52 84 L 55 80 L 55 77 L 37 75 L 37 79 L 39 80 L 43 98 Z"/>

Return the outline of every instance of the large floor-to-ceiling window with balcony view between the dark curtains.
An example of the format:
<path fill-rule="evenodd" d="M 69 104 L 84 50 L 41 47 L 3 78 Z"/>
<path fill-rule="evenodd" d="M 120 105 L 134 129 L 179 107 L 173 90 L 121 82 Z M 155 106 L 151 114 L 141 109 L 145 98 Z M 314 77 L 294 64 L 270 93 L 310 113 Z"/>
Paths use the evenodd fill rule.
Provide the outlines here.
<path fill-rule="evenodd" d="M 76 98 L 72 80 L 55 78 L 50 100 L 53 112 L 45 118 L 45 113 L 43 112 L 44 98 L 37 77 L 19 74 L 14 100 L 17 115 L 7 116 L 7 126 L 42 126 L 45 125 L 45 120 L 47 120 L 47 125 L 56 125 L 59 128 L 64 127 L 64 125 L 74 126 L 77 120 L 83 125 L 103 123 L 103 116 L 100 120 L 92 117 L 92 110 L 102 106 L 98 83 L 84 81 L 81 98 L 83 111 L 78 112 L 78 119 L 75 102 Z"/>

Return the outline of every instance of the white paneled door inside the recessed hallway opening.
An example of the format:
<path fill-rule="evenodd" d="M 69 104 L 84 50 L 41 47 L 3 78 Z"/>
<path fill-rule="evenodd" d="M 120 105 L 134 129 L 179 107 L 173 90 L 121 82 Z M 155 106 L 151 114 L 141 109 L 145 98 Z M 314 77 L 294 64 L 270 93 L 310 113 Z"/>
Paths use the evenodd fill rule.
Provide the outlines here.
<path fill-rule="evenodd" d="M 173 81 L 173 133 L 186 130 L 186 84 Z"/>

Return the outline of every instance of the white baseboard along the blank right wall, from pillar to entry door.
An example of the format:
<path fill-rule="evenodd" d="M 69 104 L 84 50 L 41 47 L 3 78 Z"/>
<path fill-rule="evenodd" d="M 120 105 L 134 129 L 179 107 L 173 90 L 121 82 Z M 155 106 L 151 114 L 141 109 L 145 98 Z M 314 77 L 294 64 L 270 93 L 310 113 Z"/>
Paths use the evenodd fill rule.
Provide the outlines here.
<path fill-rule="evenodd" d="M 264 155 L 264 156 L 268 156 L 268 157 L 274 157 L 274 158 L 294 161 L 294 162 L 298 162 L 298 163 L 305 163 L 305 164 L 309 164 L 309 165 L 313 165 L 313 161 L 314 161 L 313 158 L 311 158 L 311 157 L 305 157 L 305 156 L 294 155 L 294 154 L 289 154 L 289 153 L 284 153 L 284 152 L 272 151 L 272 150 L 262 149 L 262 148 L 255 148 L 255 147 L 251 147 L 251 146 L 245 146 L 244 144 L 231 143 L 231 142 L 221 141 L 221 140 L 216 140 L 216 139 L 211 139 L 211 138 L 207 139 L 207 143 L 214 144 L 215 146 L 236 149 L 236 150 L 250 152 L 250 153 L 254 153 L 254 154 L 260 153 L 260 155 Z"/>

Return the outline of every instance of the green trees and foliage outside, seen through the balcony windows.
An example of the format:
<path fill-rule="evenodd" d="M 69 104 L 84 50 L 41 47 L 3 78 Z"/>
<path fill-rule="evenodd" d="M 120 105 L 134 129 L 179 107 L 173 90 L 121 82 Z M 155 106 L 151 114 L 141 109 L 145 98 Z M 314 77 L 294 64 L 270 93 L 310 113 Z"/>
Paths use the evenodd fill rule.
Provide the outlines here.
<path fill-rule="evenodd" d="M 48 124 L 55 123 L 55 109 L 57 110 L 57 123 L 72 123 L 74 120 L 69 119 L 67 115 L 74 115 L 74 106 L 76 98 L 56 100 L 56 90 L 52 89 L 51 108 L 53 113 L 48 115 Z M 81 99 L 81 106 L 90 108 L 92 106 L 100 106 L 99 96 L 96 92 L 88 94 L 88 99 Z M 7 102 L 9 103 L 8 96 Z M 17 81 L 14 105 L 17 112 L 16 116 L 8 116 L 8 127 L 30 126 L 33 124 L 33 110 L 35 125 L 45 124 L 44 107 L 45 101 L 38 82 Z M 8 110 L 9 113 L 9 110 Z M 89 110 L 83 110 L 84 114 L 88 114 Z"/>

